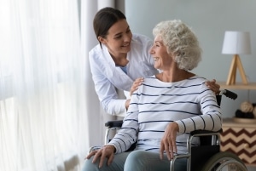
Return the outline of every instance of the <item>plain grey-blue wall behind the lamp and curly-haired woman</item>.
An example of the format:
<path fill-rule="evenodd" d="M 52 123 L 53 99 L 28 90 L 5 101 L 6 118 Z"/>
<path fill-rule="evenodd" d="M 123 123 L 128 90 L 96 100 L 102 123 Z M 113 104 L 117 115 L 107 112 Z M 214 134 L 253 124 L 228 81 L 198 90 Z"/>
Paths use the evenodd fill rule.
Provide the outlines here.
<path fill-rule="evenodd" d="M 131 31 L 152 37 L 153 27 L 161 20 L 180 19 L 192 27 L 203 49 L 203 58 L 194 72 L 208 79 L 226 81 L 232 55 L 221 54 L 224 31 L 250 31 L 252 54 L 241 55 L 249 82 L 256 82 L 256 1 L 241 0 L 125 0 L 125 14 Z M 241 81 L 241 77 L 236 77 Z M 230 89 L 237 100 L 223 98 L 224 117 L 234 117 L 244 100 L 256 103 L 256 90 Z"/>

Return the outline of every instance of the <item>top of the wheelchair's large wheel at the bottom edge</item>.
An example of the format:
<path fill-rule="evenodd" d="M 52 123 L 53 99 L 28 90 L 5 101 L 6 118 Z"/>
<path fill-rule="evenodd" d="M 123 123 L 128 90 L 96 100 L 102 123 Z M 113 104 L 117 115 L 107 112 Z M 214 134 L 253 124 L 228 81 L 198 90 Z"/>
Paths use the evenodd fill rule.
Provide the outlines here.
<path fill-rule="evenodd" d="M 247 171 L 247 168 L 235 154 L 224 151 L 212 156 L 201 171 Z"/>

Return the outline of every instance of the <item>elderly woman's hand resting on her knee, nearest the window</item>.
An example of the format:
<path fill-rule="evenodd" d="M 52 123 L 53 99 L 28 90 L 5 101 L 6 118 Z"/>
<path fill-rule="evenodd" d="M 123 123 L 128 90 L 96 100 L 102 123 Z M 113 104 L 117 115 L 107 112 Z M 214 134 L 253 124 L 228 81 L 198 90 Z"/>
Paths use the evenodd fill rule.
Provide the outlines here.
<path fill-rule="evenodd" d="M 114 152 L 115 148 L 113 145 L 105 145 L 99 150 L 91 151 L 86 159 L 90 159 L 90 157 L 94 156 L 92 162 L 96 162 L 96 160 L 99 158 L 99 168 L 102 168 L 103 162 L 106 157 L 108 158 L 108 166 L 111 164 L 111 162 L 113 162 Z"/>

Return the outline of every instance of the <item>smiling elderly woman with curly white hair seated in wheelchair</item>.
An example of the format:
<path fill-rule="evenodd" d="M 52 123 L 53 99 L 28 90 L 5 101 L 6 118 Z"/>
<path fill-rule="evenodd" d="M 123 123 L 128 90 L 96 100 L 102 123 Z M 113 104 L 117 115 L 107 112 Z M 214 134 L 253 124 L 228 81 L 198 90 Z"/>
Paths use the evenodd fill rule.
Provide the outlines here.
<path fill-rule="evenodd" d="M 191 131 L 221 128 L 215 94 L 205 78 L 190 72 L 201 60 L 195 34 L 181 20 L 160 22 L 153 34 L 150 54 L 162 72 L 146 77 L 132 94 L 122 129 L 108 145 L 90 152 L 84 171 L 168 170 L 173 154 L 186 152 Z M 125 152 L 133 143 L 135 151 Z M 175 169 L 185 170 L 185 159 L 177 160 Z"/>

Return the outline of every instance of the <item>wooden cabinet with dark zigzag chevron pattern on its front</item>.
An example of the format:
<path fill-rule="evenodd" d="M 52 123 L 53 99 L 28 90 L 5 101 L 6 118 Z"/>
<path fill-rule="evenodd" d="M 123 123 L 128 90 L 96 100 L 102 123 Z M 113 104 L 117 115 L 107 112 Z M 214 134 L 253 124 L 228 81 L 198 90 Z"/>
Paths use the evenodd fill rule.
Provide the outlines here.
<path fill-rule="evenodd" d="M 224 118 L 220 151 L 231 151 L 248 165 L 256 165 L 256 123 Z"/>

